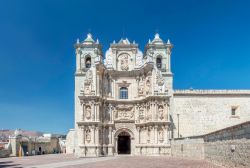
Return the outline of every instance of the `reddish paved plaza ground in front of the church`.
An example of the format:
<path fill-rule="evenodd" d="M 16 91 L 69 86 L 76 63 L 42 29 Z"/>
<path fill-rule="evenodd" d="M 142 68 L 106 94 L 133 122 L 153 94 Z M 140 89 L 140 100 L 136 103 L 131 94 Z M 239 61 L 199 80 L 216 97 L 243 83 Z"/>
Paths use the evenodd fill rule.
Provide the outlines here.
<path fill-rule="evenodd" d="M 167 156 L 116 156 L 75 158 L 73 155 L 40 155 L 0 159 L 0 167 L 12 168 L 222 168 L 207 161 Z"/>

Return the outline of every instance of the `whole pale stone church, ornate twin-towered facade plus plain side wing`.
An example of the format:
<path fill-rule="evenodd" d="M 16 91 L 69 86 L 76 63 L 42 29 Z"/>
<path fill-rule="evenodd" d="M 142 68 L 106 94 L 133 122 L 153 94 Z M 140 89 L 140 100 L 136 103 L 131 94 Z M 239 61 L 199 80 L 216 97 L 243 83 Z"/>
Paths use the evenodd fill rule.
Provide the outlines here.
<path fill-rule="evenodd" d="M 174 90 L 173 45 L 159 34 L 144 52 L 128 39 L 75 44 L 75 123 L 66 152 L 78 157 L 170 155 L 171 139 L 250 120 L 249 90 Z M 105 59 L 104 59 L 105 55 Z"/>

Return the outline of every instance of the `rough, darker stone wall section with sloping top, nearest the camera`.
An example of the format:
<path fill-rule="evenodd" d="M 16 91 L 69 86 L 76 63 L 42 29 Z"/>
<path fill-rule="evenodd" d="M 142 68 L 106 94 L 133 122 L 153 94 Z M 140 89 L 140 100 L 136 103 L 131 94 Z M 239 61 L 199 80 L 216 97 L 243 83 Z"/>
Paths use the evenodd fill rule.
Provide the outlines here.
<path fill-rule="evenodd" d="M 227 167 L 250 167 L 250 121 L 204 136 L 205 159 Z"/>

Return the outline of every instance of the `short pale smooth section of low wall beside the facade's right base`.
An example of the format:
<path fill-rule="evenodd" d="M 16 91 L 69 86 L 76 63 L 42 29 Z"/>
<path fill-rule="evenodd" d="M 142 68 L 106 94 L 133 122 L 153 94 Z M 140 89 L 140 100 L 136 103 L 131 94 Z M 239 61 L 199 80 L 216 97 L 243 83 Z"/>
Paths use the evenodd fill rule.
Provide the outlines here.
<path fill-rule="evenodd" d="M 192 159 L 204 159 L 203 137 L 190 137 L 171 141 L 171 155 Z"/>

